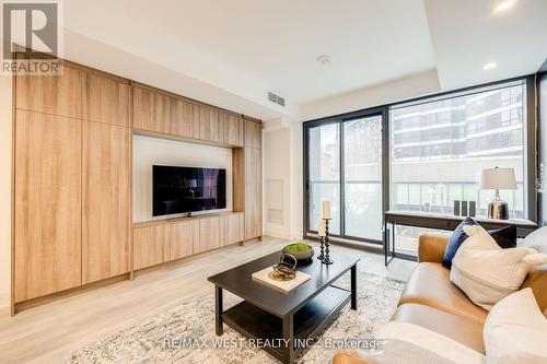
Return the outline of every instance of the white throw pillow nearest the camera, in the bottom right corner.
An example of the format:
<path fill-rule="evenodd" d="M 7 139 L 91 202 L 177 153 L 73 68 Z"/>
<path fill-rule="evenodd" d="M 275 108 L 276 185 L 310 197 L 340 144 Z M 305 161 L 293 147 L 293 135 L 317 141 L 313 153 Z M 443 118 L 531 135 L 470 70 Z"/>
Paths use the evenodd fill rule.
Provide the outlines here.
<path fill-rule="evenodd" d="M 497 303 L 485 322 L 488 364 L 547 363 L 547 319 L 531 289 Z"/>

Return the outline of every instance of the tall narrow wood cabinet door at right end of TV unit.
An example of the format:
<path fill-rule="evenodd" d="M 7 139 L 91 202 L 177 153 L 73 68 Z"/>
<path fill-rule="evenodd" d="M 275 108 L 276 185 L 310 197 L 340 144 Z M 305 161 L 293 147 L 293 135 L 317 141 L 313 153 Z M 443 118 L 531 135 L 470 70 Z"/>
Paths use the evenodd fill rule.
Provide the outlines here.
<path fill-rule="evenodd" d="M 261 155 L 245 148 L 245 239 L 261 235 Z"/>

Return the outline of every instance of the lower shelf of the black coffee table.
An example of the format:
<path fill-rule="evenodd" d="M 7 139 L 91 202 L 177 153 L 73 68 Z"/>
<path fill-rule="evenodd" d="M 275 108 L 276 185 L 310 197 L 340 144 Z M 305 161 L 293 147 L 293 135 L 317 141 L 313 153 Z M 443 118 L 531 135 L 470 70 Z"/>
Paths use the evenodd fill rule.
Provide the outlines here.
<path fill-rule="evenodd" d="M 306 339 L 316 339 L 350 300 L 350 291 L 330 285 L 293 314 L 294 357 L 306 349 L 301 343 Z M 282 318 L 247 301 L 222 313 L 222 321 L 246 338 L 268 340 L 270 343 L 283 338 Z M 280 361 L 287 359 L 284 347 L 263 349 Z"/>

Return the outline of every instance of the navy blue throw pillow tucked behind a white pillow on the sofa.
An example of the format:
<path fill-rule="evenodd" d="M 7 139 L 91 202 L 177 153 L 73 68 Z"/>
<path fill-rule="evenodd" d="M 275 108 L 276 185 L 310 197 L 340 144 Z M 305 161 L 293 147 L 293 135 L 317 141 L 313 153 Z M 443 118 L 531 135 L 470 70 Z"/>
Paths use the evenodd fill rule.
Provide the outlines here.
<path fill-rule="evenodd" d="M 456 256 L 457 249 L 459 249 L 465 239 L 469 237 L 464 232 L 464 226 L 467 225 L 477 225 L 477 223 L 472 218 L 465 218 L 450 236 L 442 261 L 442 265 L 449 269 L 452 267 L 452 259 Z M 501 228 L 490 230 L 488 231 L 488 234 L 490 234 L 496 243 L 503 249 L 514 248 L 516 246 L 516 225 L 508 225 Z"/>

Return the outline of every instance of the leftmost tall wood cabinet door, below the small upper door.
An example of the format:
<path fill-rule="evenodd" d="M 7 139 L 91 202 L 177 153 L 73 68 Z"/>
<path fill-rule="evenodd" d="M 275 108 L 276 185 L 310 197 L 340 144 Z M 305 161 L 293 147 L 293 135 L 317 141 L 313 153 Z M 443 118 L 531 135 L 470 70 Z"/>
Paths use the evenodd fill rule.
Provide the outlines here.
<path fill-rule="evenodd" d="M 78 119 L 16 111 L 15 302 L 82 283 L 81 138 Z"/>

